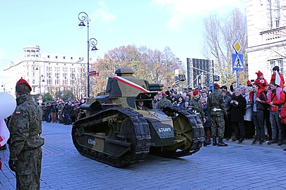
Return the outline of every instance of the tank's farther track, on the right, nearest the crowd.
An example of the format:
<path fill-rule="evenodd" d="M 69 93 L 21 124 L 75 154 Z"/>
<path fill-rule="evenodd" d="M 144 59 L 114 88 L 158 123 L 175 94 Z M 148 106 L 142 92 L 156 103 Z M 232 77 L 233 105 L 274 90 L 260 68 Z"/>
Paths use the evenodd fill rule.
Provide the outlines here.
<path fill-rule="evenodd" d="M 189 120 L 189 123 L 191 124 L 192 128 L 189 130 L 193 130 L 193 138 L 189 139 L 187 136 L 185 136 L 189 141 L 191 141 L 191 146 L 189 148 L 186 148 L 184 151 L 150 151 L 150 153 L 155 154 L 157 156 L 163 156 L 167 158 L 179 158 L 183 156 L 189 156 L 193 153 L 196 153 L 200 150 L 203 141 L 204 141 L 204 129 L 201 122 L 201 119 L 198 118 L 196 114 L 191 112 L 191 110 L 188 110 L 186 108 L 182 108 L 179 106 L 166 106 L 163 108 L 163 112 L 168 113 L 177 113 L 180 115 L 184 115 Z M 174 134 L 176 136 L 177 129 L 174 129 Z M 184 131 L 187 132 L 187 131 Z M 182 133 L 184 135 L 184 132 Z"/>

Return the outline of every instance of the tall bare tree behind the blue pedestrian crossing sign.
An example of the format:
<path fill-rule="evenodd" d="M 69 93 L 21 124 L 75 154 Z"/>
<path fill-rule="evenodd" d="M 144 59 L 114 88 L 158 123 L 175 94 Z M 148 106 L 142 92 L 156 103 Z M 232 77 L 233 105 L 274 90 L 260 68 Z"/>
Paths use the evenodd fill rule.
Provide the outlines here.
<path fill-rule="evenodd" d="M 239 81 L 246 84 L 248 67 L 246 57 L 247 34 L 246 15 L 235 8 L 226 18 L 218 19 L 218 15 L 210 15 L 204 20 L 203 54 L 215 61 L 215 73 L 220 75 L 221 84 L 235 81 L 232 70 L 232 44 L 239 39 L 244 56 L 244 71 L 239 71 Z"/>

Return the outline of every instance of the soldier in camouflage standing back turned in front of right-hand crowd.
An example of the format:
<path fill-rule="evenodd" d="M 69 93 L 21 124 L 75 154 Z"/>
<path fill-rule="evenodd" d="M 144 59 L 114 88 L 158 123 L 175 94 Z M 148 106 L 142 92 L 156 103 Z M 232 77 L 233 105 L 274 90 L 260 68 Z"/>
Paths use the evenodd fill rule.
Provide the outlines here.
<path fill-rule="evenodd" d="M 225 134 L 225 102 L 220 92 L 220 85 L 215 83 L 213 89 L 213 93 L 208 96 L 208 109 L 210 110 L 210 117 L 212 118 L 213 146 L 227 146 L 227 144 L 222 141 Z M 218 137 L 218 143 L 216 137 Z"/>

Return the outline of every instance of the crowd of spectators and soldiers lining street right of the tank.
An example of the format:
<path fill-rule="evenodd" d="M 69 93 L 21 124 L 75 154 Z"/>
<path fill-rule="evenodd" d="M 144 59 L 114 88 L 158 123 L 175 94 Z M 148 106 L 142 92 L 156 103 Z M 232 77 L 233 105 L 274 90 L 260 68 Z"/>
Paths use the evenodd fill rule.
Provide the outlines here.
<path fill-rule="evenodd" d="M 227 146 L 225 141 L 252 139 L 253 144 L 283 144 L 286 137 L 286 104 L 284 77 L 280 68 L 273 68 L 270 82 L 263 72 L 256 72 L 257 79 L 230 88 L 210 83 L 209 88 L 169 88 L 158 92 L 154 108 L 176 105 L 188 108 L 202 120 L 205 129 L 204 146 Z M 217 139 L 218 138 L 218 139 Z M 218 141 L 217 141 L 218 140 Z M 286 151 L 286 148 L 284 149 Z"/>

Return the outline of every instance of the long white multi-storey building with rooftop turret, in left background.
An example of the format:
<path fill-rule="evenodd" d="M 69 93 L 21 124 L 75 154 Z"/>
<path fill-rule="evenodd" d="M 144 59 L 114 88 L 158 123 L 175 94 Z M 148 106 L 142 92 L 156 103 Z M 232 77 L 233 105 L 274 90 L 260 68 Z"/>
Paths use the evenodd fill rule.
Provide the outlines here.
<path fill-rule="evenodd" d="M 16 82 L 23 78 L 32 87 L 32 95 L 71 90 L 77 98 L 86 96 L 85 58 L 40 53 L 40 46 L 25 46 L 23 51 L 22 57 L 4 69 L 5 91 L 14 94 Z"/>

